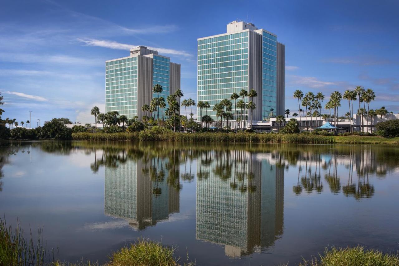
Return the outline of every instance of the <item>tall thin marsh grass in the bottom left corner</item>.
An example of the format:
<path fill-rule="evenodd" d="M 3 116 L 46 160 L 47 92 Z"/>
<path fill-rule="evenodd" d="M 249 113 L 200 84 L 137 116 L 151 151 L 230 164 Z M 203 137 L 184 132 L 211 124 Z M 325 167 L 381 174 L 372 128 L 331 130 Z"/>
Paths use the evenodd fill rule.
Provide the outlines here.
<path fill-rule="evenodd" d="M 19 220 L 13 230 L 4 218 L 0 218 L 0 265 L 45 265 L 51 260 L 51 255 L 54 258 L 54 250 L 47 252 L 41 228 L 36 240 L 32 230 L 25 238 Z"/>

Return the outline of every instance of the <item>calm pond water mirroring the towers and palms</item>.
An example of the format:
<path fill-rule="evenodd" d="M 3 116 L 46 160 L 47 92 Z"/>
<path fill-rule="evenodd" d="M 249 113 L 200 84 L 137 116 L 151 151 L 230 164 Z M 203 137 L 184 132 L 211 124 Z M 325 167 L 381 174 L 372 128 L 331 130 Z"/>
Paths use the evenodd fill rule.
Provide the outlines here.
<path fill-rule="evenodd" d="M 199 265 L 299 262 L 327 245 L 399 250 L 399 148 L 32 142 L 0 146 L 0 213 L 59 258 L 138 237 Z"/>

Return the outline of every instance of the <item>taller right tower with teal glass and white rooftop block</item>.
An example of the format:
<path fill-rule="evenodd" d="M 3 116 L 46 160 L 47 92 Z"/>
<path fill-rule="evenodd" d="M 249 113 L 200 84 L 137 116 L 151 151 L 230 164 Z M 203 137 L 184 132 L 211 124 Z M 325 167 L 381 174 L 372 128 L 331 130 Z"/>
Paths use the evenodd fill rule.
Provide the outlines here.
<path fill-rule="evenodd" d="M 252 23 L 233 21 L 227 33 L 198 39 L 198 101 L 211 105 L 230 99 L 242 89 L 255 89 L 254 121 L 265 121 L 284 114 L 284 48 L 277 36 Z M 237 99 L 239 101 L 240 97 Z M 235 106 L 233 119 L 248 113 Z M 215 111 L 208 111 L 216 120 Z M 198 120 L 201 116 L 198 114 Z"/>

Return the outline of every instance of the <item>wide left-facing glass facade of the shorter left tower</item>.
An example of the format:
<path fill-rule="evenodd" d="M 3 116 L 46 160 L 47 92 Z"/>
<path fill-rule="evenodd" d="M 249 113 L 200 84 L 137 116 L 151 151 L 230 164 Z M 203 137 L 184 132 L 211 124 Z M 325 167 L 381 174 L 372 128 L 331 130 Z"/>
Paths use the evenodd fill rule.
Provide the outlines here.
<path fill-rule="evenodd" d="M 137 57 L 105 63 L 105 111 L 137 115 Z"/>

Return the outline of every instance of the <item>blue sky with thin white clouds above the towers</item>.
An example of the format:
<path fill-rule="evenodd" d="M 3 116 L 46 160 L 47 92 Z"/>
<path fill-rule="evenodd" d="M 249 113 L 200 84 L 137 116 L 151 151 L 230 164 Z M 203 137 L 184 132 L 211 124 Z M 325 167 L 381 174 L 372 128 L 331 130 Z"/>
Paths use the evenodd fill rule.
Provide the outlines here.
<path fill-rule="evenodd" d="M 185 97 L 196 100 L 197 38 L 241 19 L 286 45 L 286 108 L 295 89 L 375 90 L 371 108 L 399 112 L 399 2 L 375 1 L 2 1 L 3 118 L 69 117 L 105 111 L 105 60 L 129 47 L 157 48 L 182 64 Z M 193 110 L 194 111 L 194 110 Z M 340 114 L 348 111 L 345 101 Z"/>

